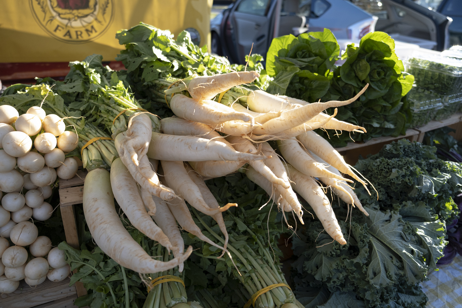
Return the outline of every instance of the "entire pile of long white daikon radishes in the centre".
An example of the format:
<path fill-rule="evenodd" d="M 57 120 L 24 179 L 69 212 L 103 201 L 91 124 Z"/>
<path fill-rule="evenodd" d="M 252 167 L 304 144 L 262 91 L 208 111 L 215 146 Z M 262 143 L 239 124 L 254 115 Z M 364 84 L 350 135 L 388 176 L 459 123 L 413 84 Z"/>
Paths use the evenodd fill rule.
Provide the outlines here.
<path fill-rule="evenodd" d="M 120 158 L 112 164 L 110 175 L 104 169 L 92 170 L 84 188 L 84 212 L 91 235 L 117 263 L 140 273 L 164 271 L 173 266 L 180 266 L 181 270 L 191 247 L 184 252 L 178 224 L 222 249 L 222 255 L 228 253 L 228 234 L 221 212 L 237 204 L 219 207 L 204 179 L 240 168 L 246 169 L 249 179 L 267 191 L 280 210 L 294 211 L 303 223 L 302 205 L 294 193 L 297 191 L 311 205 L 327 233 L 339 243 L 346 243 L 329 200 L 314 178 L 367 215 L 347 184 L 352 181 L 339 170 L 363 185 L 366 183 L 326 140 L 311 130 L 322 127 L 364 131 L 322 111 L 354 102 L 367 86 L 344 102 L 309 104 L 246 88 L 242 88 L 239 99 L 245 99 L 249 109 L 237 100 L 229 106 L 213 101 L 217 97 L 220 100 L 232 87 L 250 83 L 258 76 L 252 71 L 191 79 L 186 89 L 181 90 L 187 90 L 186 95 L 170 92 L 171 97 L 165 97 L 177 117 L 160 121 L 162 133 L 152 131 L 152 120 L 146 112 L 130 116 L 127 131 L 115 138 Z M 278 140 L 283 159 L 264 141 L 269 139 Z M 174 259 L 161 262 L 146 254 L 123 228 L 113 196 L 133 226 L 172 249 Z M 201 233 L 184 200 L 213 217 L 225 236 L 223 247 Z"/>

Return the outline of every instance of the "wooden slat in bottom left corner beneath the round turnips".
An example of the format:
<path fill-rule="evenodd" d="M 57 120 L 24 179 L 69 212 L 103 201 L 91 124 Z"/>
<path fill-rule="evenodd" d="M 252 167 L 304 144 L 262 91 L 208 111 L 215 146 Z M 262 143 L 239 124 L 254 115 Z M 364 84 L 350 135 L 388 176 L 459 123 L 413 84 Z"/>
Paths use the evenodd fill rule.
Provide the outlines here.
<path fill-rule="evenodd" d="M 10 294 L 0 295 L 0 308 L 30 308 L 68 296 L 76 296 L 75 286 L 69 286 L 69 281 L 69 278 L 61 282 L 46 279 L 43 284 L 30 287 L 23 280 L 20 282 L 18 290 Z"/>

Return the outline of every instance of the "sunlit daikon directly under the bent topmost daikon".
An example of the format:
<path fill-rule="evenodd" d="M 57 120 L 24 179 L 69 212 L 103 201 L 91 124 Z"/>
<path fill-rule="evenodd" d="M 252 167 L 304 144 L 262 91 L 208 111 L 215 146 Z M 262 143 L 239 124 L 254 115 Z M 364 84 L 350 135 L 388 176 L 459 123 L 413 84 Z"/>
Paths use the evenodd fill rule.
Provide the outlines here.
<path fill-rule="evenodd" d="M 214 101 L 198 102 L 182 94 L 176 94 L 172 97 L 170 108 L 180 118 L 209 125 L 218 125 L 232 120 L 241 120 L 254 124 L 254 117 L 247 113 L 237 112 Z"/>

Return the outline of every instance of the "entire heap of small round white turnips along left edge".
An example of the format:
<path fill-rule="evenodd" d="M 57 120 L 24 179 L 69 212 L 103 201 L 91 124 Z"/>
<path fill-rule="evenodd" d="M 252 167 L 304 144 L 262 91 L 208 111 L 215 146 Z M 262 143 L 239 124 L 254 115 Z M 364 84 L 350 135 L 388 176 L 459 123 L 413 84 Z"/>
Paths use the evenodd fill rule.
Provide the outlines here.
<path fill-rule="evenodd" d="M 48 254 L 51 242 L 48 239 L 49 248 L 45 253 L 45 248 L 37 248 L 40 252 L 35 254 L 32 243 L 44 240 L 43 236 L 37 238 L 37 228 L 29 220 L 49 219 L 53 208 L 44 200 L 52 195 L 51 185 L 56 176 L 70 179 L 77 173 L 77 161 L 66 158 L 65 153 L 77 147 L 78 137 L 65 128 L 59 116 L 45 116 L 40 107 L 31 107 L 27 113 L 19 115 L 12 106 L 0 106 L 0 252 L 3 253 L 0 254 L 0 293 L 13 292 L 18 281 L 24 278 L 27 284 L 40 284 L 49 273 L 49 264 L 42 257 Z M 8 248 L 7 238 L 16 246 Z M 26 266 L 28 254 L 23 246 L 28 245 L 31 245 L 30 253 L 37 258 Z M 65 266 L 62 262 L 59 265 L 60 268 Z M 50 269 L 49 277 L 55 280 L 57 274 L 52 271 Z M 64 278 L 69 274 L 64 269 L 58 272 L 59 275 L 65 274 Z"/>

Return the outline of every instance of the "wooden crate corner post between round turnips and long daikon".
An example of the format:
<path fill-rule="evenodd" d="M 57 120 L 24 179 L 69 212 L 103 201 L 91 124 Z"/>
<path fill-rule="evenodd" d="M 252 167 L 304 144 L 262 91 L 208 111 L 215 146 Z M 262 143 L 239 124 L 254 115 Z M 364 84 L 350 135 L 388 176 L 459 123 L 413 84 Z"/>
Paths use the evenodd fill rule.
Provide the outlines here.
<path fill-rule="evenodd" d="M 59 199 L 62 223 L 64 225 L 64 233 L 66 235 L 66 242 L 69 246 L 80 249 L 79 231 L 77 227 L 77 218 L 75 215 L 75 205 L 82 203 L 85 182 L 86 170 L 77 171 L 70 180 L 59 181 Z M 81 282 L 75 283 L 77 296 L 87 294 L 84 284 Z M 1 306 L 0 306 L 1 308 Z"/>

